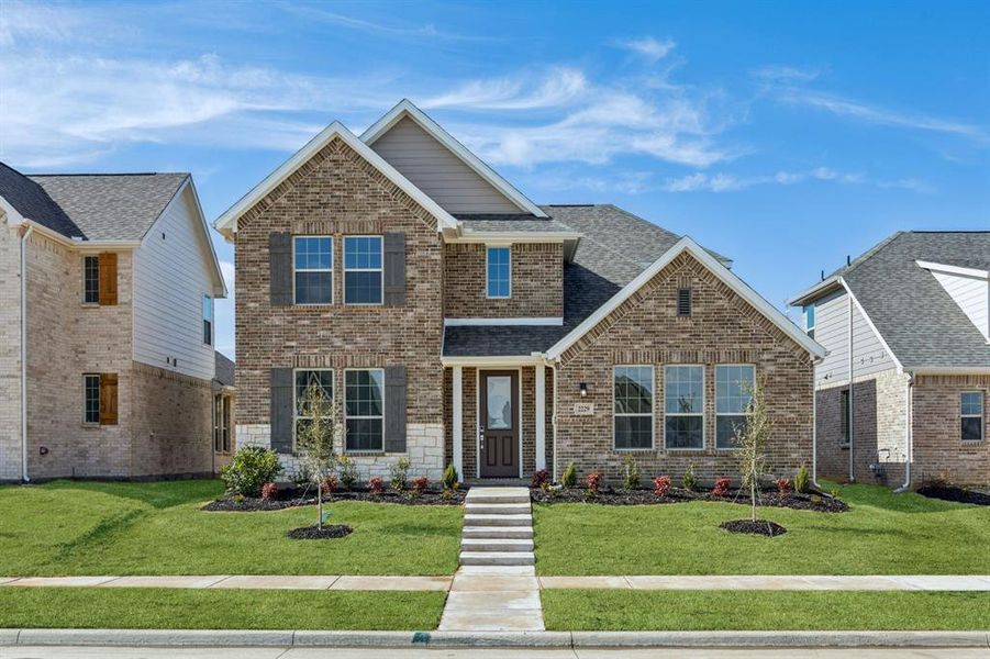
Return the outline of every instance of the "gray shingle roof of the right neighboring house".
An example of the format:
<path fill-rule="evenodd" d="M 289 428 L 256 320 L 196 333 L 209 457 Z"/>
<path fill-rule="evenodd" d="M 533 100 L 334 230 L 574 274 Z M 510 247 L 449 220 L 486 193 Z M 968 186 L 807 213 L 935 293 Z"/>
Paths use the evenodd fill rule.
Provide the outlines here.
<path fill-rule="evenodd" d="M 864 256 L 836 273 L 904 368 L 990 368 L 987 339 L 915 263 L 990 269 L 990 232 L 902 232 Z"/>

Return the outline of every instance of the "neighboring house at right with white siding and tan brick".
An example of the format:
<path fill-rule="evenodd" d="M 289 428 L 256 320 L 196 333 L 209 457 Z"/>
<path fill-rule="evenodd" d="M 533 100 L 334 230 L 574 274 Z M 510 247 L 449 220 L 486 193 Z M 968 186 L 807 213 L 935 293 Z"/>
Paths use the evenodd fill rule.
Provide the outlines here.
<path fill-rule="evenodd" d="M 988 270 L 990 232 L 900 232 L 790 301 L 828 350 L 820 474 L 990 482 Z"/>

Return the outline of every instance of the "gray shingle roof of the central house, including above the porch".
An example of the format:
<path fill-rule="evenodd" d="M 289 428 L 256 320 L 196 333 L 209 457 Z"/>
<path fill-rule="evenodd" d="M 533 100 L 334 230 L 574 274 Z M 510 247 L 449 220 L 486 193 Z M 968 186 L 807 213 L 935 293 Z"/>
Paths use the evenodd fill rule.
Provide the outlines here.
<path fill-rule="evenodd" d="M 612 204 L 546 205 L 541 209 L 550 216 L 548 220 L 522 215 L 501 221 L 524 222 L 525 225 L 553 222 L 564 226 L 565 231 L 581 234 L 574 260 L 564 265 L 564 325 L 447 327 L 444 332 L 445 357 L 519 356 L 548 349 L 681 237 Z"/>

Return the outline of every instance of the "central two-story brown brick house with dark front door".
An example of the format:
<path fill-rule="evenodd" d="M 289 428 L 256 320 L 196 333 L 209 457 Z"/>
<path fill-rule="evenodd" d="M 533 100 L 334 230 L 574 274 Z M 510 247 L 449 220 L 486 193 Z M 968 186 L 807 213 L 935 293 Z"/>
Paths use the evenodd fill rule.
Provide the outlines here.
<path fill-rule="evenodd" d="M 812 459 L 824 350 L 728 261 L 613 205 L 536 205 L 402 101 L 333 123 L 215 222 L 236 245 L 237 440 L 290 469 L 309 383 L 364 477 L 738 473 L 766 380 L 775 472 Z"/>

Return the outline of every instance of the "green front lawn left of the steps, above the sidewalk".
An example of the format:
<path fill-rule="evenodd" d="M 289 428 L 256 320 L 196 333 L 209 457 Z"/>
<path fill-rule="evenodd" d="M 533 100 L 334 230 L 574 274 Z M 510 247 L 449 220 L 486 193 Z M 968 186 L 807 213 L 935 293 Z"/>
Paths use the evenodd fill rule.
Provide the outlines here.
<path fill-rule="evenodd" d="M 213 480 L 2 487 L 0 576 L 450 574 L 457 568 L 459 506 L 331 503 L 331 522 L 351 525 L 353 534 L 291 540 L 287 530 L 315 523 L 313 506 L 199 510 L 222 491 Z"/>

